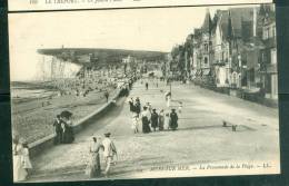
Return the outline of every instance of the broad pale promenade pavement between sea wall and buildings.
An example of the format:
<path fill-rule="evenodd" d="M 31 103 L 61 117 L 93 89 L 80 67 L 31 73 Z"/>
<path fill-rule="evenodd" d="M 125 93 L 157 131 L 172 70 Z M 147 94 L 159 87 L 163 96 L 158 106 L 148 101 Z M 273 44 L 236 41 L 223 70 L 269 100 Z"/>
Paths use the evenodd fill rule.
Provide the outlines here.
<path fill-rule="evenodd" d="M 166 107 L 163 82 L 149 82 L 149 90 L 137 82 L 130 97 Z M 179 130 L 134 135 L 130 128 L 129 106 L 124 98 L 104 118 L 96 120 L 71 145 L 56 146 L 33 160 L 31 182 L 88 179 L 83 174 L 91 136 L 112 134 L 119 151 L 111 178 L 177 176 L 155 172 L 167 165 L 200 165 L 232 161 L 279 161 L 277 109 L 217 94 L 193 85 L 172 84 L 172 107 L 183 102 Z M 238 124 L 237 131 L 222 127 L 222 120 Z M 141 128 L 141 127 L 140 127 Z M 104 168 L 104 165 L 102 165 Z M 168 167 L 167 167 L 168 168 Z M 278 169 L 278 167 L 277 167 Z M 170 175 L 171 174 L 171 175 Z M 209 175 L 209 173 L 206 173 Z M 180 176 L 196 176 L 183 172 Z M 102 178 L 99 178 L 102 179 Z"/>

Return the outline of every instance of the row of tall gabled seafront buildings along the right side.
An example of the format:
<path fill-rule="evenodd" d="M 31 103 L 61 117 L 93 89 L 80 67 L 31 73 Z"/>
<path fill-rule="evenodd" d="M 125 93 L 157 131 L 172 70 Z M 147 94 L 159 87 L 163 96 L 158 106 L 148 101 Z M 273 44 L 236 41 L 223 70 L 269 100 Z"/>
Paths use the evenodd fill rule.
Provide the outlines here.
<path fill-rule="evenodd" d="M 272 4 L 217 10 L 212 18 L 207 10 L 171 61 L 195 84 L 277 99 L 276 39 Z"/>

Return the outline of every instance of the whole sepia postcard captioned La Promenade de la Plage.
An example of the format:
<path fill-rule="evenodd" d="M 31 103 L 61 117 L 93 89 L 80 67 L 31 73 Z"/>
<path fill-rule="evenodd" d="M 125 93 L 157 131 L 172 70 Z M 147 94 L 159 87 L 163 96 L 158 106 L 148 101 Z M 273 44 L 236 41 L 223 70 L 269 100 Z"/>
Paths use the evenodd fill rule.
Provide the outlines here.
<path fill-rule="evenodd" d="M 280 174 L 273 3 L 8 17 L 14 183 Z"/>

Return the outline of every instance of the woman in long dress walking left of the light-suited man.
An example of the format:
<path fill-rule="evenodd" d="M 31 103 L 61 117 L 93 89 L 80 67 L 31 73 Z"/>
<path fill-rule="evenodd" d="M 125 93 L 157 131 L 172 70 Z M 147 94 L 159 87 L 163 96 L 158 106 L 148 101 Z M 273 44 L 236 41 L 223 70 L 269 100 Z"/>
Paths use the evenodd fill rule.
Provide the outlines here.
<path fill-rule="evenodd" d="M 100 176 L 101 167 L 100 167 L 100 158 L 99 158 L 99 150 L 101 148 L 100 143 L 98 143 L 97 138 L 92 138 L 92 143 L 89 147 L 89 161 L 86 168 L 86 175 L 90 178 Z"/>

